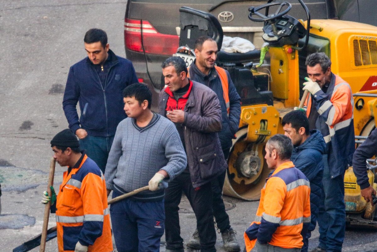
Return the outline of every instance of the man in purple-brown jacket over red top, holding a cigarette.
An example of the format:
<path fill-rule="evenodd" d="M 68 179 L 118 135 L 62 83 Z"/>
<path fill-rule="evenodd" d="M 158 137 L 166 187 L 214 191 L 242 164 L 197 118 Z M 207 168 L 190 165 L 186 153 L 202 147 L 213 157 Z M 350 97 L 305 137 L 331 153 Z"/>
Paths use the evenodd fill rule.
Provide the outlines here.
<path fill-rule="evenodd" d="M 165 191 L 166 251 L 184 252 L 178 216 L 183 191 L 195 212 L 201 252 L 215 252 L 211 181 L 227 168 L 217 134 L 221 131 L 219 99 L 210 88 L 187 78 L 182 58 L 164 61 L 162 74 L 167 87 L 159 95 L 159 113 L 175 123 L 188 164 Z"/>

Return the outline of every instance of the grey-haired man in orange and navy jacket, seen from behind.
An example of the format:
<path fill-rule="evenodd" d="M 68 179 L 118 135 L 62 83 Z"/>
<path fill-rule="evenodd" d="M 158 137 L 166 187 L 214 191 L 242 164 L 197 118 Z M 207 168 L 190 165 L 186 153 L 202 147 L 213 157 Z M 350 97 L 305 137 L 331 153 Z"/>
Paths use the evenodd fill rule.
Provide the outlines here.
<path fill-rule="evenodd" d="M 310 224 L 310 184 L 290 161 L 290 138 L 277 134 L 266 143 L 265 159 L 273 174 L 261 191 L 255 220 L 245 231 L 247 252 L 299 252 Z"/>

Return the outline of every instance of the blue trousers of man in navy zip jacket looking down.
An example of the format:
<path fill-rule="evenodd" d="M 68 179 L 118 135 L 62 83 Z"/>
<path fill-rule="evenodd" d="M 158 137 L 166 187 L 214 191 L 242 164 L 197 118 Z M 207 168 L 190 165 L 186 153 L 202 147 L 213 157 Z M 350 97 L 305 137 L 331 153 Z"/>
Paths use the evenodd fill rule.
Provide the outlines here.
<path fill-rule="evenodd" d="M 90 135 L 87 135 L 86 138 L 79 140 L 80 149 L 86 150 L 86 155 L 95 161 L 103 174 L 105 174 L 107 158 L 109 157 L 113 140 L 114 136 L 93 137 Z"/>

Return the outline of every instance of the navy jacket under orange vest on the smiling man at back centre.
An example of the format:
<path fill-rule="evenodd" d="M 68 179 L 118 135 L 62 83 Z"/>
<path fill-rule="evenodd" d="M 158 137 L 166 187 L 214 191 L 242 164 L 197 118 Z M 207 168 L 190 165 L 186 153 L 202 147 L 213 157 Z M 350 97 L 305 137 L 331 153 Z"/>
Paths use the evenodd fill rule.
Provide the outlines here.
<path fill-rule="evenodd" d="M 196 60 L 195 60 L 196 61 Z M 218 76 L 215 68 L 211 69 L 210 74 L 203 74 L 195 65 L 195 61 L 191 64 L 189 72 L 190 78 L 193 81 L 202 83 L 212 89 L 218 96 L 221 106 L 221 117 L 222 117 L 222 127 L 221 132 L 219 132 L 219 138 L 221 143 L 221 148 L 229 149 L 232 146 L 232 138 L 234 134 L 238 131 L 239 116 L 241 114 L 241 98 L 239 97 L 236 88 L 234 87 L 233 81 L 228 75 L 228 92 L 229 92 L 229 116 L 227 114 L 227 107 L 225 105 L 224 95 L 222 91 L 222 85 L 220 77 Z"/>

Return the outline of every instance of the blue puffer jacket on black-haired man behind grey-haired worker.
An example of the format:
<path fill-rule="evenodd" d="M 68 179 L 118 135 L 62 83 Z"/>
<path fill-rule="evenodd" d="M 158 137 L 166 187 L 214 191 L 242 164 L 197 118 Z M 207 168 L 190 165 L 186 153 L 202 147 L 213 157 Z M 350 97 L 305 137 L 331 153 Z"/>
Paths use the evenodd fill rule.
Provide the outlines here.
<path fill-rule="evenodd" d="M 310 137 L 301 145 L 294 146 L 291 161 L 310 182 L 310 212 L 311 224 L 308 231 L 316 227 L 318 210 L 321 203 L 323 159 L 327 160 L 326 143 L 321 132 L 317 129 L 310 131 Z"/>

